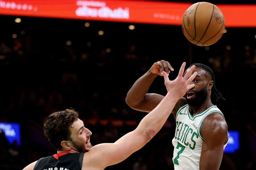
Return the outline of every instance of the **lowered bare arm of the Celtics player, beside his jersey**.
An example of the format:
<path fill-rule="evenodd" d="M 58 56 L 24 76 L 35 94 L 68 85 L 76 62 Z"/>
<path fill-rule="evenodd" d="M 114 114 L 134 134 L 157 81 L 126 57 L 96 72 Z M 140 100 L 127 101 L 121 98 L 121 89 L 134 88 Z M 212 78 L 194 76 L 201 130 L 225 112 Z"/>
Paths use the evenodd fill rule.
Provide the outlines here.
<path fill-rule="evenodd" d="M 204 138 L 200 170 L 218 170 L 223 156 L 223 145 L 228 140 L 228 126 L 223 117 L 213 113 L 204 119 L 201 127 Z"/>

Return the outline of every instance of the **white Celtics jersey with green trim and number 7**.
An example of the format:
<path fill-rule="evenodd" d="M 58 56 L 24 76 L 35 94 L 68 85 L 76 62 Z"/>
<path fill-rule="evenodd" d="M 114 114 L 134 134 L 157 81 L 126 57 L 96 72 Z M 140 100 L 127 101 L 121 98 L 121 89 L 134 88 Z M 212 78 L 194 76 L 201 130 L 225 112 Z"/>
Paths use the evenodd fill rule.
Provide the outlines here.
<path fill-rule="evenodd" d="M 205 117 L 212 113 L 219 113 L 223 116 L 217 106 L 209 107 L 193 116 L 189 113 L 188 104 L 179 108 L 176 114 L 175 136 L 172 139 L 174 146 L 172 160 L 175 170 L 199 169 L 203 145 L 200 129 Z"/>

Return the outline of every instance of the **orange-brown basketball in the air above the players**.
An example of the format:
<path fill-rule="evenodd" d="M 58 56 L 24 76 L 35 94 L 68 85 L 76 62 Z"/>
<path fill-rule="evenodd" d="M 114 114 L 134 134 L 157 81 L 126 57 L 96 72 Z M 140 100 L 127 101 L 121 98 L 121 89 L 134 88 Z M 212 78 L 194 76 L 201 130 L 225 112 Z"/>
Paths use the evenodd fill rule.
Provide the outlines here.
<path fill-rule="evenodd" d="M 222 37 L 225 18 L 216 5 L 198 2 L 185 11 L 181 28 L 191 43 L 197 46 L 209 46 Z"/>

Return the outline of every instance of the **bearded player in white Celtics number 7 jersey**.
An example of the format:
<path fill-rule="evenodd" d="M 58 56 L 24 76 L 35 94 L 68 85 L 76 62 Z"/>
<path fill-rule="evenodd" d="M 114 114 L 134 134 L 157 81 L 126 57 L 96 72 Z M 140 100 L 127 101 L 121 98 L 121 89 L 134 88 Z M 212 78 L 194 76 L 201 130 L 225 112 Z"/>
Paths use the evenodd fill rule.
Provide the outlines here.
<path fill-rule="evenodd" d="M 176 103 L 172 114 L 176 130 L 172 140 L 175 170 L 217 170 L 220 168 L 223 149 L 228 143 L 228 126 L 220 109 L 212 104 L 212 97 L 225 100 L 215 87 L 212 69 L 204 64 L 193 64 L 197 72 L 192 81 L 195 87 Z M 173 71 L 169 62 L 158 61 L 141 76 L 127 93 L 126 103 L 133 109 L 150 112 L 164 98 L 147 93 L 157 75 Z M 188 70 L 188 69 L 187 69 Z M 185 71 L 186 73 L 186 71 Z M 185 74 L 184 73 L 184 74 Z"/>

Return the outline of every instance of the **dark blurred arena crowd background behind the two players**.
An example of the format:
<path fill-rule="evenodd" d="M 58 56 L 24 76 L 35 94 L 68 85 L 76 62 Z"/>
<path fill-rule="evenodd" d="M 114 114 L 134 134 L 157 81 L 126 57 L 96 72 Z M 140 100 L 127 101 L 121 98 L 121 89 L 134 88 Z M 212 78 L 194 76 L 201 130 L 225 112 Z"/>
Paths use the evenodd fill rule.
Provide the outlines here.
<path fill-rule="evenodd" d="M 15 18 L 22 21 L 16 23 Z M 1 169 L 22 169 L 56 153 L 43 135 L 44 119 L 52 112 L 69 107 L 78 111 L 92 131 L 93 145 L 115 142 L 135 129 L 146 113 L 131 109 L 126 94 L 159 60 L 174 68 L 170 79 L 176 78 L 182 62 L 212 68 L 226 99 L 214 104 L 228 130 L 240 134 L 240 148 L 224 153 L 220 169 L 256 169 L 255 28 L 227 27 L 217 43 L 199 47 L 188 42 L 180 26 L 16 16 L 0 16 L 0 21 L 0 122 L 21 125 L 20 146 L 8 143 L 0 130 Z M 90 26 L 84 26 L 86 22 Z M 134 30 L 128 29 L 131 24 Z M 165 95 L 164 78 L 158 76 L 149 92 Z M 174 130 L 171 115 L 145 147 L 106 169 L 173 169 Z"/>

